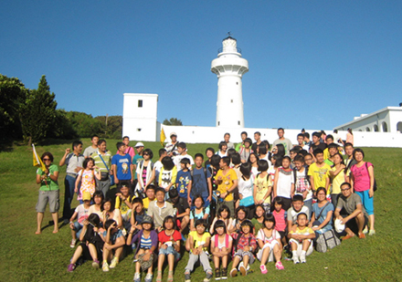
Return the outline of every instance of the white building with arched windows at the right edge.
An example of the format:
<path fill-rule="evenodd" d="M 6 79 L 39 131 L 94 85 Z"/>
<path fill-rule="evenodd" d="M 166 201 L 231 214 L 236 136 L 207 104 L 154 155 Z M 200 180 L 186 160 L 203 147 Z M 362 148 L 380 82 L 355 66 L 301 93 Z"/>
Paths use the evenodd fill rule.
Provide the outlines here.
<path fill-rule="evenodd" d="M 335 127 L 335 130 L 346 131 L 348 128 L 353 131 L 400 133 L 402 107 L 386 107 L 370 114 L 362 114 L 360 117 L 354 117 L 352 121 Z"/>

